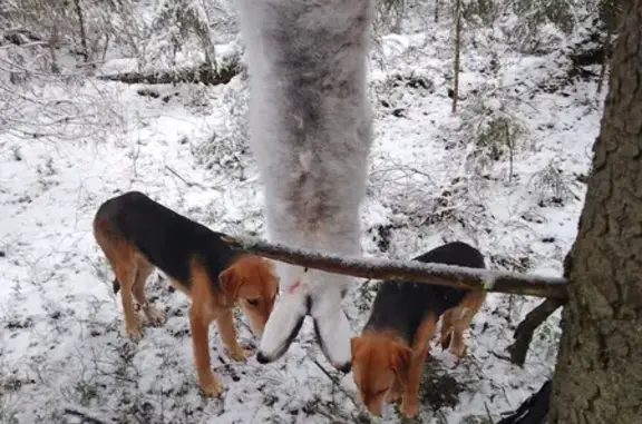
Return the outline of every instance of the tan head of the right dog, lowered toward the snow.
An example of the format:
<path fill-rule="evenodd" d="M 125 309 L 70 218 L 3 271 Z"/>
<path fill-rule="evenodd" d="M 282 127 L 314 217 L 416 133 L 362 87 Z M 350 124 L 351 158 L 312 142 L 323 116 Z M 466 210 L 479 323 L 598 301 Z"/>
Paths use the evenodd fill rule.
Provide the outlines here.
<path fill-rule="evenodd" d="M 374 415 L 381 415 L 395 382 L 405 384 L 412 351 L 401 342 L 379 334 L 363 334 L 350 341 L 352 377 L 361 401 Z"/>

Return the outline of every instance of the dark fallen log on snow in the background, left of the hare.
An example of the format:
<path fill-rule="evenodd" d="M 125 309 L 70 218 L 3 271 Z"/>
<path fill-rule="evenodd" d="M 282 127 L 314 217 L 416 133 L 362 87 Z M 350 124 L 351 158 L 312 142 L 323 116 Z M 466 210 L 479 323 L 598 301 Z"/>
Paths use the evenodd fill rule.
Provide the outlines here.
<path fill-rule="evenodd" d="M 107 81 L 119 81 L 125 83 L 178 83 L 178 82 L 202 82 L 206 86 L 227 83 L 236 75 L 241 73 L 241 66 L 230 63 L 220 69 L 214 69 L 207 63 L 196 68 L 179 69 L 176 71 L 159 72 L 123 72 L 116 75 L 98 76 L 98 79 Z"/>

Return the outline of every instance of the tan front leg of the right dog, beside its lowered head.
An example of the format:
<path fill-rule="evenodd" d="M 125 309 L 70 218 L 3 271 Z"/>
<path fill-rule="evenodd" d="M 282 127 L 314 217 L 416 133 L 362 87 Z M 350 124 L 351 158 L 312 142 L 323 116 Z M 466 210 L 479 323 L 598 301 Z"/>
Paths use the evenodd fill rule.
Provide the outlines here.
<path fill-rule="evenodd" d="M 435 315 L 428 316 L 417 329 L 415 334 L 415 342 L 412 344 L 412 359 L 410 368 L 408 369 L 408 379 L 406 382 L 406 390 L 403 391 L 403 400 L 401 401 L 401 413 L 407 418 L 412 418 L 419 413 L 418 397 L 419 385 L 421 384 L 421 374 L 424 364 L 426 363 L 426 353 L 430 338 L 435 335 L 437 326 L 437 317 Z"/>

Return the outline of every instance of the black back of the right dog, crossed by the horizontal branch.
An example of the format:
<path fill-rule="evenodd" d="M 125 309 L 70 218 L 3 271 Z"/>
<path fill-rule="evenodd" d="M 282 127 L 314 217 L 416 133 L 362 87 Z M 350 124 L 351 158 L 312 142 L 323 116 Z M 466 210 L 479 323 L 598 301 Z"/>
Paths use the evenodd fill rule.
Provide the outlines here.
<path fill-rule="evenodd" d="M 439 246 L 412 260 L 485 268 L 479 250 L 461 241 Z M 379 286 L 364 329 L 391 329 L 411 345 L 428 314 L 439 316 L 457 306 L 465 296 L 466 290 L 454 287 L 386 280 Z"/>

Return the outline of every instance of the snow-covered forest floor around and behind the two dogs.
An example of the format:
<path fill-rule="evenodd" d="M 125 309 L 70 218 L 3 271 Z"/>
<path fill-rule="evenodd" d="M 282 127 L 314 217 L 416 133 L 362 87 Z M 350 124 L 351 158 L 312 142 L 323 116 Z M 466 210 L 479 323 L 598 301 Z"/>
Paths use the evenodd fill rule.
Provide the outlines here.
<path fill-rule="evenodd" d="M 519 56 L 469 42 L 453 115 L 449 40 L 440 29 L 386 36 L 373 53 L 366 253 L 409 258 L 461 239 L 494 268 L 560 275 L 599 131 L 596 85 L 546 89 L 562 72 L 558 52 Z M 0 132 L 0 423 L 356 422 L 351 374 L 331 371 L 310 323 L 266 366 L 253 356 L 232 362 L 212 337 L 213 367 L 227 388 L 220 400 L 200 396 L 187 299 L 156 274 L 148 293 L 167 323 L 146 327 L 137 345 L 123 336 L 120 300 L 91 235 L 107 198 L 137 189 L 213 229 L 264 235 L 262 188 L 243 150 L 246 81 L 31 89 L 21 96 L 39 100 L 21 114 L 38 136 Z M 58 118 L 68 108 L 69 119 L 52 122 L 52 108 Z M 372 288 L 356 285 L 346 300 L 356 333 Z M 432 348 L 435 372 L 461 391 L 454 407 L 424 402 L 425 423 L 497 421 L 538 388 L 555 361 L 557 316 L 537 333 L 523 369 L 506 359 L 516 324 L 536 303 L 490 295 L 467 337 L 468 358 L 455 364 Z M 256 344 L 244 324 L 240 337 Z M 392 406 L 385 418 L 399 422 Z"/>

